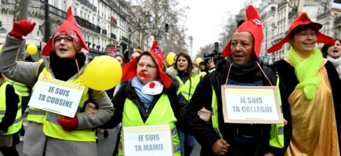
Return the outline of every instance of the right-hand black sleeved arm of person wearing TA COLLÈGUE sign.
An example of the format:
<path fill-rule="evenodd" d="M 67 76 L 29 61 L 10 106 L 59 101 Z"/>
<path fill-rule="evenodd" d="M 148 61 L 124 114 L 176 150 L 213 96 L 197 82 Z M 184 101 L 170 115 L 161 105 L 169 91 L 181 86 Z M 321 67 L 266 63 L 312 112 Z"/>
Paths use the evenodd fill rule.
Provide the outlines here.
<path fill-rule="evenodd" d="M 281 149 L 281 148 L 269 146 L 269 152 L 274 154 L 275 156 L 284 156 L 286 149 L 289 146 L 291 136 L 292 136 L 292 118 L 291 118 L 291 110 L 290 110 L 290 105 L 289 105 L 289 101 L 287 98 L 286 89 L 281 79 L 280 79 L 279 87 L 280 87 L 280 94 L 281 94 L 281 101 L 282 101 L 283 117 L 287 121 L 287 124 L 284 126 L 284 148 Z"/>

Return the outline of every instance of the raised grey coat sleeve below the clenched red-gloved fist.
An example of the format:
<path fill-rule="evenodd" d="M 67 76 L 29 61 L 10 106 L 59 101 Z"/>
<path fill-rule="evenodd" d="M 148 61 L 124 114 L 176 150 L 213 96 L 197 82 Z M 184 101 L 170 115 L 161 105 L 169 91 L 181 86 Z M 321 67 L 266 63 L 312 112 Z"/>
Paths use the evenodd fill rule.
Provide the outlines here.
<path fill-rule="evenodd" d="M 7 34 L 0 53 L 0 73 L 15 82 L 32 87 L 35 84 L 39 62 L 17 61 L 22 42 L 23 39 L 16 39 Z"/>

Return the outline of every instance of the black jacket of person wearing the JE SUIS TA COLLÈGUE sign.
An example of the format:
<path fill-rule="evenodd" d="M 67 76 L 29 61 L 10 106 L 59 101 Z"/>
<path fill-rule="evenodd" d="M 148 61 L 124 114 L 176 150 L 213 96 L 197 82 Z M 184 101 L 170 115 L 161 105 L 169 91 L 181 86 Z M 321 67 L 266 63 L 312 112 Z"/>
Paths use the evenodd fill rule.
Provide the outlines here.
<path fill-rule="evenodd" d="M 197 112 L 205 107 L 208 110 L 211 110 L 212 103 L 212 87 L 216 95 L 218 95 L 218 122 L 219 122 L 219 130 L 222 132 L 223 139 L 227 140 L 230 144 L 230 149 L 234 146 L 233 140 L 231 140 L 228 131 L 228 125 L 224 124 L 223 110 L 222 110 L 222 98 L 221 98 L 221 85 L 225 84 L 227 78 L 228 68 L 226 67 L 227 61 L 224 60 L 221 63 L 217 64 L 216 70 L 212 73 L 208 73 L 197 85 L 195 92 L 189 101 L 189 107 L 187 112 L 187 123 L 189 125 L 189 134 L 193 135 L 195 139 L 202 146 L 200 156 L 216 156 L 211 150 L 211 146 L 214 142 L 221 139 L 219 135 L 214 131 L 213 126 L 210 122 L 206 123 L 199 118 Z M 276 84 L 276 70 L 272 66 L 263 65 L 263 70 L 266 76 L 270 79 L 272 84 Z M 270 86 L 268 80 L 264 78 L 264 85 Z M 288 121 L 288 124 L 284 126 L 284 148 L 275 148 L 272 146 L 268 146 L 269 138 L 265 138 L 263 141 L 266 143 L 262 143 L 261 147 L 259 147 L 258 155 L 264 155 L 267 152 L 273 153 L 275 156 L 284 156 L 286 148 L 289 145 L 292 135 L 292 123 L 291 123 L 291 112 L 289 108 L 289 103 L 286 95 L 285 87 L 280 80 L 280 92 L 282 99 L 282 109 L 284 119 Z M 263 142 L 262 141 L 262 142 Z M 226 156 L 230 156 L 232 154 L 227 152 Z"/>

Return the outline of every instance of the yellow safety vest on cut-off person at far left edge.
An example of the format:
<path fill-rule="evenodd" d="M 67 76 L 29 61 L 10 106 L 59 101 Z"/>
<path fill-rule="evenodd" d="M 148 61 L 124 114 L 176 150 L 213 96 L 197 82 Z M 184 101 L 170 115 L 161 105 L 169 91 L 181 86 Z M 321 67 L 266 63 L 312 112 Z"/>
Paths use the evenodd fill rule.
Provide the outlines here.
<path fill-rule="evenodd" d="M 5 116 L 6 112 L 6 86 L 8 83 L 3 83 L 0 86 L 0 122 L 2 121 L 2 118 Z M 10 135 L 17 133 L 22 126 L 22 120 L 21 120 L 21 102 L 18 103 L 18 111 L 16 119 L 13 122 L 13 125 L 8 127 L 7 133 L 2 135 Z"/>

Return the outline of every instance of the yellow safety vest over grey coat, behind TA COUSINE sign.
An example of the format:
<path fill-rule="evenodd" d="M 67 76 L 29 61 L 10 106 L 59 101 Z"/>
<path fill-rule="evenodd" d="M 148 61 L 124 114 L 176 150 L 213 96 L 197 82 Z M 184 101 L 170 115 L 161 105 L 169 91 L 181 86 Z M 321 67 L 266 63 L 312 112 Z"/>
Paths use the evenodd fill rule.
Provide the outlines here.
<path fill-rule="evenodd" d="M 46 67 L 42 70 L 39 76 L 44 76 L 46 73 L 47 78 L 53 78 L 51 73 L 46 69 Z M 83 74 L 81 74 L 83 77 Z M 68 80 L 70 83 L 81 84 L 81 78 L 77 77 L 75 79 Z M 37 83 L 36 83 L 37 84 Z M 36 88 L 36 84 L 32 88 L 32 93 Z M 77 112 L 84 106 L 84 102 L 89 99 L 88 87 L 85 87 L 82 97 L 80 99 Z M 83 130 L 73 130 L 70 132 L 64 131 L 59 122 L 57 122 L 58 118 L 64 118 L 64 116 L 55 114 L 52 112 L 44 111 L 41 109 L 36 109 L 34 107 L 29 107 L 27 120 L 39 124 L 44 124 L 43 132 L 46 136 L 57 138 L 60 140 L 71 140 L 71 141 L 81 141 L 81 142 L 95 142 L 95 129 L 83 129 Z"/>

